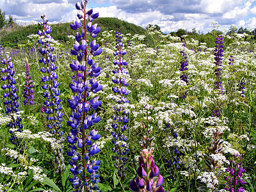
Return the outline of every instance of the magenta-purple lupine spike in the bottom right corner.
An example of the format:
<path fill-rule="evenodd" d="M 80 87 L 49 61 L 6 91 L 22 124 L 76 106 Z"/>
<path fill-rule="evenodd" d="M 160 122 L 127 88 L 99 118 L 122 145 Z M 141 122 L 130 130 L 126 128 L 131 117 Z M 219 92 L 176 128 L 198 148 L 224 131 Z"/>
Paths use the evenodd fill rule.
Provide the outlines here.
<path fill-rule="evenodd" d="M 245 183 L 243 180 L 243 172 L 244 168 L 241 166 L 241 162 L 236 163 L 239 155 L 235 155 L 234 159 L 230 161 L 230 167 L 228 167 L 225 171 L 229 173 L 225 179 L 227 180 L 227 185 L 226 185 L 226 191 L 238 191 L 238 192 L 243 192 L 243 184 Z M 242 157 L 239 158 L 238 161 L 241 161 Z"/>

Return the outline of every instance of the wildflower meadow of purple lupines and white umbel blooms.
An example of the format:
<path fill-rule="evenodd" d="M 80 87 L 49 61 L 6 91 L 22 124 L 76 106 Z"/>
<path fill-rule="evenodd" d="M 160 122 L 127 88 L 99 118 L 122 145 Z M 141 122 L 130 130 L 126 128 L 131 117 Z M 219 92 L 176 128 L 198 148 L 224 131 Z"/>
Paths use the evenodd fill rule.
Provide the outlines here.
<path fill-rule="evenodd" d="M 42 15 L 1 47 L 0 191 L 256 191 L 253 37 L 100 31 L 87 3 L 67 42 Z"/>

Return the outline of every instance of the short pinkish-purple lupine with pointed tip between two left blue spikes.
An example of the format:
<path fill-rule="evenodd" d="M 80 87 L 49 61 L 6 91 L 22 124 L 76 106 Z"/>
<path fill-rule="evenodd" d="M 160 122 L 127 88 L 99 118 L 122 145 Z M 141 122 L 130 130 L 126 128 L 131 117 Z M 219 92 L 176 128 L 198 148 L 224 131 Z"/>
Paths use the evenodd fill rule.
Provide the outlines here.
<path fill-rule="evenodd" d="M 34 104 L 34 85 L 32 84 L 33 80 L 31 79 L 30 72 L 29 72 L 29 63 L 28 59 L 26 58 L 26 79 L 24 84 L 24 106 L 29 106 Z"/>

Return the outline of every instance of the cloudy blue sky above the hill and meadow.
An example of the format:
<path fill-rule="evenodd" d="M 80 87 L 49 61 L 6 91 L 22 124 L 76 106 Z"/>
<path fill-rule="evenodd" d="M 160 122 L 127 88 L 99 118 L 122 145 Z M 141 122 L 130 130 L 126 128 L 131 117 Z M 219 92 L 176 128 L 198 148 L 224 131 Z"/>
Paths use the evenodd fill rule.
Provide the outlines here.
<path fill-rule="evenodd" d="M 19 24 L 35 24 L 46 14 L 49 22 L 72 22 L 76 19 L 77 0 L 0 0 L 6 16 Z M 256 28 L 256 0 L 90 0 L 86 6 L 99 17 L 116 17 L 143 28 L 157 24 L 161 31 L 177 29 L 201 33 L 212 31 L 212 22 L 225 32 L 232 24 Z"/>

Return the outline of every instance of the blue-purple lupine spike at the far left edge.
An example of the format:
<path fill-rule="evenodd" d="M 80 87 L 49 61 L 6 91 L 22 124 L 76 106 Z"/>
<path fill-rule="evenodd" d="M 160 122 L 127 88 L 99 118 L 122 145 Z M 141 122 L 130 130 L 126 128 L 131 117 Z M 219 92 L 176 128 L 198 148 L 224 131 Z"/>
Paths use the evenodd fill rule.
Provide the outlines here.
<path fill-rule="evenodd" d="M 2 58 L 1 64 L 1 80 L 4 81 L 1 88 L 4 90 L 3 97 L 5 99 L 3 104 L 6 106 L 6 115 L 10 115 L 12 118 L 12 121 L 6 126 L 9 128 L 11 134 L 10 141 L 18 147 L 19 141 L 15 138 L 14 132 L 22 132 L 23 125 L 21 124 L 20 116 L 17 116 L 16 114 L 18 112 L 19 102 L 17 102 L 17 88 L 15 87 L 16 80 L 13 78 L 15 71 L 13 69 L 12 58 L 6 55 L 5 58 Z"/>

